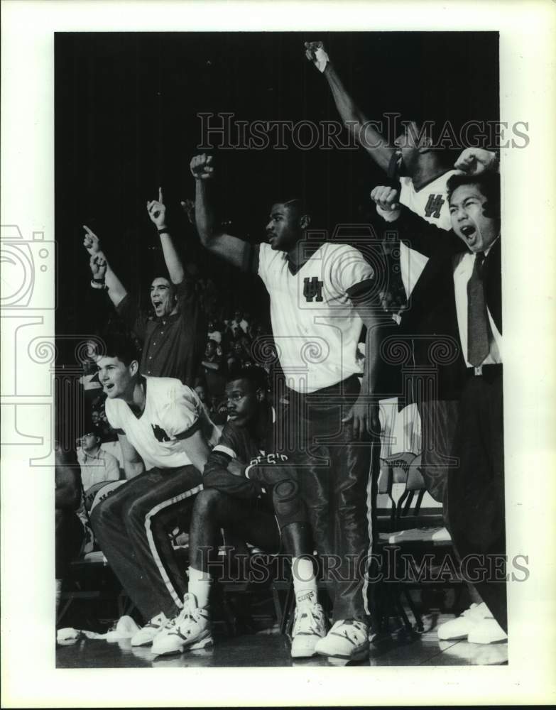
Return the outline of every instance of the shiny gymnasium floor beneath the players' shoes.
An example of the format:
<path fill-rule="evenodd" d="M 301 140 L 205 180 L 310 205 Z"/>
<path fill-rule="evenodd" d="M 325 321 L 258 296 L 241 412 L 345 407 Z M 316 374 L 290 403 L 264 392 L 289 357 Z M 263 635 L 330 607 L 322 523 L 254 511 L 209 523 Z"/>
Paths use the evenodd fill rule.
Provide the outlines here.
<path fill-rule="evenodd" d="M 423 617 L 425 633 L 408 636 L 391 619 L 389 633 L 371 643 L 369 660 L 356 665 L 435 666 L 435 665 L 505 665 L 508 644 L 477 645 L 467 641 L 439 642 L 436 627 L 454 618 L 450 614 Z M 98 639 L 77 640 L 58 646 L 58 668 L 131 668 L 131 667 L 279 667 L 346 665 L 343 661 L 313 657 L 293 661 L 288 639 L 276 626 L 232 638 L 222 631 L 214 635 L 210 650 L 189 651 L 182 655 L 153 657 L 149 648 L 131 648 L 129 640 L 107 643 Z"/>

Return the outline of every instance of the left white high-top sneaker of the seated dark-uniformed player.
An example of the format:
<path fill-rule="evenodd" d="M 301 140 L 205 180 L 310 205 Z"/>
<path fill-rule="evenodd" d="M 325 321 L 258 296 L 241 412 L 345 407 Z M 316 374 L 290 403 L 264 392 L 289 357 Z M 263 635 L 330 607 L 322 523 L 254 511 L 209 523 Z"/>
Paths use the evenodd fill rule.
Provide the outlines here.
<path fill-rule="evenodd" d="M 209 610 L 198 608 L 195 594 L 186 594 L 182 611 L 166 624 L 153 641 L 153 653 L 182 653 L 184 650 L 206 648 L 212 644 Z"/>

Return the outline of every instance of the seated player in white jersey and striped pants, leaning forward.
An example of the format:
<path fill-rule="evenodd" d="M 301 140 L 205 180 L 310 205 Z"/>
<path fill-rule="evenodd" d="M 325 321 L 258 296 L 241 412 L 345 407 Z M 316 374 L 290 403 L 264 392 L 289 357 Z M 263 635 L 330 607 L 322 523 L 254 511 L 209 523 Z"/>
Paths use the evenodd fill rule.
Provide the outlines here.
<path fill-rule="evenodd" d="M 182 607 L 185 585 L 168 537 L 202 489 L 201 471 L 218 432 L 192 389 L 175 378 L 145 377 L 123 339 L 97 357 L 106 413 L 119 432 L 128 480 L 92 510 L 94 535 L 143 618 L 132 645 L 150 643 Z M 145 470 L 145 464 L 153 466 Z"/>

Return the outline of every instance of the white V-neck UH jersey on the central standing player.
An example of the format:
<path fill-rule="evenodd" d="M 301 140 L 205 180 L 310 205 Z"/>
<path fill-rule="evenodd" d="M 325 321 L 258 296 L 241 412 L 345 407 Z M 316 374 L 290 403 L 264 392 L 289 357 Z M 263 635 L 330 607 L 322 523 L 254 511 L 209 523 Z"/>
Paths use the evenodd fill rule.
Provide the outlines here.
<path fill-rule="evenodd" d="M 271 320 L 288 387 L 315 392 L 362 371 L 363 325 L 347 290 L 374 278 L 357 249 L 322 244 L 293 275 L 282 251 L 259 245 L 258 275 L 271 297 Z"/>

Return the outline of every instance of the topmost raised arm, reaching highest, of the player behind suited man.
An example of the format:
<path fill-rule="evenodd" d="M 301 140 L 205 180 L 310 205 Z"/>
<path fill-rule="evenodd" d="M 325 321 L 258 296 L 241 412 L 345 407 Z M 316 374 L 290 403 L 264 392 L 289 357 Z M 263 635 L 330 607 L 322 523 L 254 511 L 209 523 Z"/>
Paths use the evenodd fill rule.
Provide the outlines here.
<path fill-rule="evenodd" d="M 348 93 L 337 71 L 332 65 L 322 42 L 305 42 L 305 56 L 325 76 L 328 82 L 334 104 L 356 141 L 383 170 L 388 170 L 394 148 L 388 146 L 386 138 L 379 133 L 371 121 L 359 109 L 354 99 Z"/>

